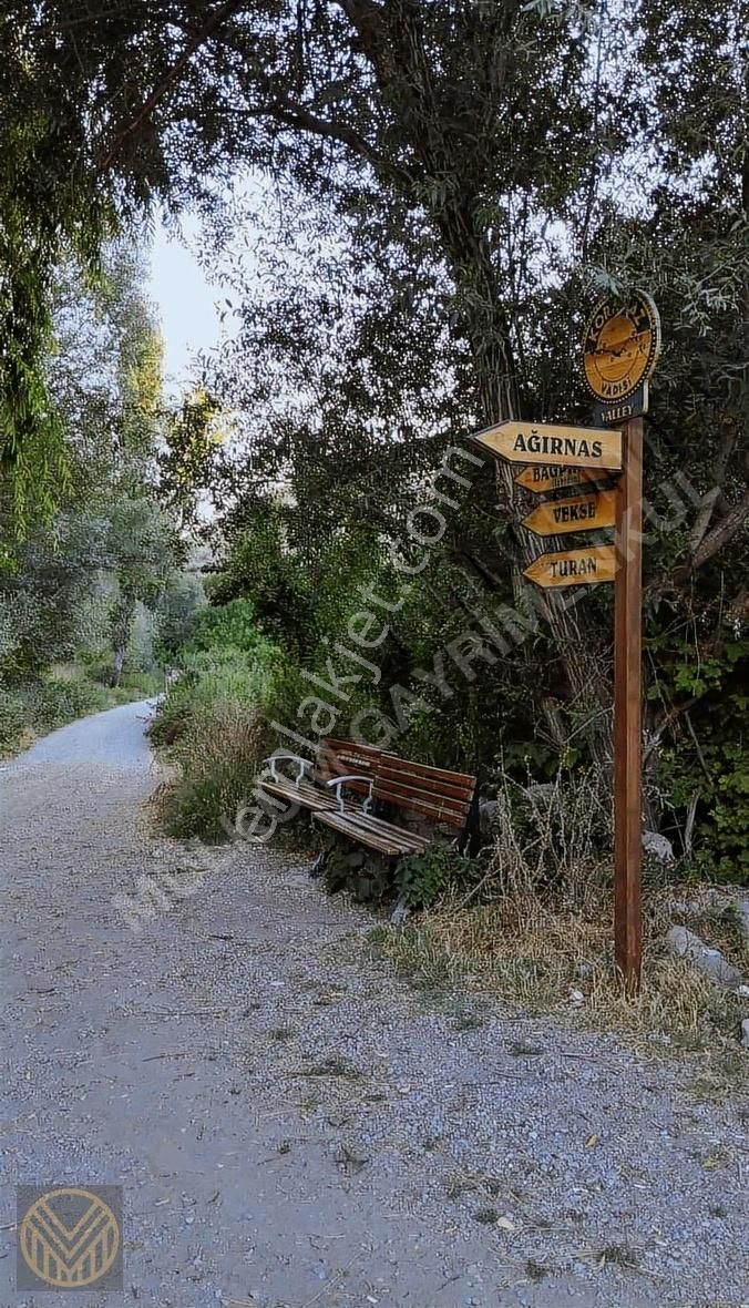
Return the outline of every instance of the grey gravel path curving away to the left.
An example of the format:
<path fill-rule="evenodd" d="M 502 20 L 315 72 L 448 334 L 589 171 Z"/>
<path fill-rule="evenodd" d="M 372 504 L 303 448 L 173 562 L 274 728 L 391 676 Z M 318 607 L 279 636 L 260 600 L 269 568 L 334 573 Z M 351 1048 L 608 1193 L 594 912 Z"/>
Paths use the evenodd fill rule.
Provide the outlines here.
<path fill-rule="evenodd" d="M 467 1020 L 278 854 L 156 838 L 146 713 L 0 768 L 3 1308 L 50 1301 L 14 1288 L 17 1181 L 124 1186 L 124 1299 L 69 1308 L 749 1303 L 737 1108 L 614 1041 Z M 135 931 L 112 899 L 144 875 Z"/>

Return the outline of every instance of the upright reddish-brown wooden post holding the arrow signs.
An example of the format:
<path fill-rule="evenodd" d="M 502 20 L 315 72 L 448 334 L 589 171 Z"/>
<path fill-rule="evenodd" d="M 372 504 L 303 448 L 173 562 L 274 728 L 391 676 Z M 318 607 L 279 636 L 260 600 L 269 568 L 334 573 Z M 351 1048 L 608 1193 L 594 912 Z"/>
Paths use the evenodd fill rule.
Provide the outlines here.
<path fill-rule="evenodd" d="M 642 454 L 634 417 L 622 428 L 614 578 L 614 954 L 630 993 L 642 965 Z"/>

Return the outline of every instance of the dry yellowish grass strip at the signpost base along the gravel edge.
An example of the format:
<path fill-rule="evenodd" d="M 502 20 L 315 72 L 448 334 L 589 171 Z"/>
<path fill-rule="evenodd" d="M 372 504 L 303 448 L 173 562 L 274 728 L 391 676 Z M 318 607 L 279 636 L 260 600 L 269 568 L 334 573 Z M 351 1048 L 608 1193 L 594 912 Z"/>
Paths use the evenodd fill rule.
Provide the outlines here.
<path fill-rule="evenodd" d="M 749 1065 L 740 1044 L 746 998 L 667 947 L 669 929 L 682 923 L 746 976 L 749 935 L 731 893 L 664 884 L 660 869 L 646 869 L 643 981 L 631 997 L 616 978 L 608 867 L 582 866 L 553 891 L 533 888 L 524 876 L 508 882 L 502 850 L 502 838 L 489 848 L 477 892 L 454 886 L 431 912 L 400 927 L 374 927 L 375 955 L 430 1003 L 444 1005 L 459 993 L 474 1012 L 481 997 L 491 995 L 512 1012 L 616 1032 L 644 1057 L 689 1057 L 698 1097 L 746 1092 Z M 532 1056 L 533 1040 L 519 1040 L 516 1052 Z"/>

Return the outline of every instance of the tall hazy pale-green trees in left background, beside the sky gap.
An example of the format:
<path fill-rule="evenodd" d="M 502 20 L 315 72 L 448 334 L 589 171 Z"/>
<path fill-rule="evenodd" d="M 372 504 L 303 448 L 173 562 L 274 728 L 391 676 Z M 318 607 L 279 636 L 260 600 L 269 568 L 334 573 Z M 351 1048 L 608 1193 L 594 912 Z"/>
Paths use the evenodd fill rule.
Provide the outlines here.
<path fill-rule="evenodd" d="M 68 476 L 58 511 L 8 542 L 0 590 L 10 680 L 38 679 L 108 638 L 119 684 L 136 607 L 157 608 L 182 556 L 176 526 L 156 502 L 165 412 L 142 260 L 119 245 L 103 266 L 95 288 L 71 264 L 56 277 L 58 345 L 44 366 Z"/>

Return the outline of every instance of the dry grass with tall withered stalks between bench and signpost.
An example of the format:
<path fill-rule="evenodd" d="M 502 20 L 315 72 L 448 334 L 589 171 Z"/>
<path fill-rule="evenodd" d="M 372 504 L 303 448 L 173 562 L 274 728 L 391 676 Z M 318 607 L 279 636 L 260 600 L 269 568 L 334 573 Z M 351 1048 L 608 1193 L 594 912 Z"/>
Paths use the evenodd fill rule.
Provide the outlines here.
<path fill-rule="evenodd" d="M 705 1054 L 697 1092 L 719 1097 L 745 1078 L 737 1041 L 745 1002 L 664 938 L 684 922 L 749 974 L 749 951 L 725 896 L 710 887 L 646 886 L 643 977 L 625 994 L 613 960 L 610 867 L 596 858 L 610 808 L 595 778 L 531 791 L 505 781 L 482 879 L 405 927 L 375 933 L 388 957 L 434 990 L 484 990 L 531 1014 L 625 1036 L 641 1050 Z M 663 880 L 663 870 L 652 880 Z M 480 900 L 484 903 L 480 903 Z M 573 994 L 571 991 L 576 991 Z"/>

